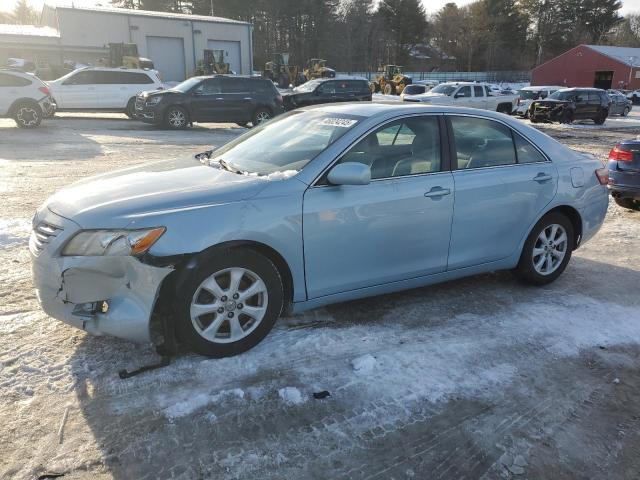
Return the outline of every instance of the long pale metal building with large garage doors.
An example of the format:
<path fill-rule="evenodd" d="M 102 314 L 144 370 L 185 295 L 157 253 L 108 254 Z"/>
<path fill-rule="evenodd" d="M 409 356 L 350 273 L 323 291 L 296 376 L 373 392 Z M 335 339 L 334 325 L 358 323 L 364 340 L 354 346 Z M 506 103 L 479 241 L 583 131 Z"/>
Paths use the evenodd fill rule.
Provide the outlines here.
<path fill-rule="evenodd" d="M 224 50 L 231 70 L 253 70 L 252 26 L 247 22 L 201 15 L 120 8 L 45 5 L 41 26 L 3 29 L 0 63 L 8 57 L 95 64 L 109 43 L 135 43 L 141 57 L 153 60 L 165 81 L 189 77 L 205 49 Z"/>

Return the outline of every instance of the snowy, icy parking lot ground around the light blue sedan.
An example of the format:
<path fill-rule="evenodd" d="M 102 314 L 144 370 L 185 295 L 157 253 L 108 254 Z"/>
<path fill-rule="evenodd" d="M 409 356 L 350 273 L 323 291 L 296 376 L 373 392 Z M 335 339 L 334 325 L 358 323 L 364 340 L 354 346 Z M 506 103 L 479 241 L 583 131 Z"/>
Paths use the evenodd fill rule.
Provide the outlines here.
<path fill-rule="evenodd" d="M 604 160 L 640 134 L 640 109 L 539 128 Z M 637 477 L 640 212 L 613 202 L 546 287 L 498 272 L 334 305 L 281 319 L 240 356 L 185 353 L 127 380 L 152 347 L 40 310 L 27 242 L 49 195 L 243 131 L 0 120 L 0 478 Z"/>

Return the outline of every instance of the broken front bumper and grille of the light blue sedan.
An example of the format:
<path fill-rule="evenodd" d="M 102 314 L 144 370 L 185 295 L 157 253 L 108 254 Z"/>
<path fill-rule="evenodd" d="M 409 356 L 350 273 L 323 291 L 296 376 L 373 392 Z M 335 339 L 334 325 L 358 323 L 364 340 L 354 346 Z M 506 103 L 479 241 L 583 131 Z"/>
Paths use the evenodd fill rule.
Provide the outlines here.
<path fill-rule="evenodd" d="M 150 342 L 151 314 L 172 268 L 146 265 L 131 256 L 61 256 L 79 230 L 49 210 L 34 221 L 29 250 L 42 309 L 94 335 Z"/>

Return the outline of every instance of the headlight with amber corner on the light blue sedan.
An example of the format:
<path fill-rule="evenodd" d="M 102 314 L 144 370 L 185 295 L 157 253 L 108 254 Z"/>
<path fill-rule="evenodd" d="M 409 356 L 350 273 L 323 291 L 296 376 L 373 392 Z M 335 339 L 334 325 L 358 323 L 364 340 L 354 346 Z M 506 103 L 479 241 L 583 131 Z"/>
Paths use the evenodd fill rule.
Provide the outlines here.
<path fill-rule="evenodd" d="M 62 251 L 65 256 L 140 255 L 151 248 L 166 228 L 144 230 L 85 230 L 78 232 Z"/>

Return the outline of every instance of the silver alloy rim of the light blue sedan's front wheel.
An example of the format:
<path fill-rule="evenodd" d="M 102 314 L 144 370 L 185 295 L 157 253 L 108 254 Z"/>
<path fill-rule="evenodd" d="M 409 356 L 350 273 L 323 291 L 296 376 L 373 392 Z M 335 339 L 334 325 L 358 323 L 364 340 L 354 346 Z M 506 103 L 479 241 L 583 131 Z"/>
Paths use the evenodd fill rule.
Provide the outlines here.
<path fill-rule="evenodd" d="M 262 322 L 269 296 L 264 281 L 246 268 L 227 268 L 206 278 L 190 305 L 196 332 L 213 343 L 232 343 Z"/>

